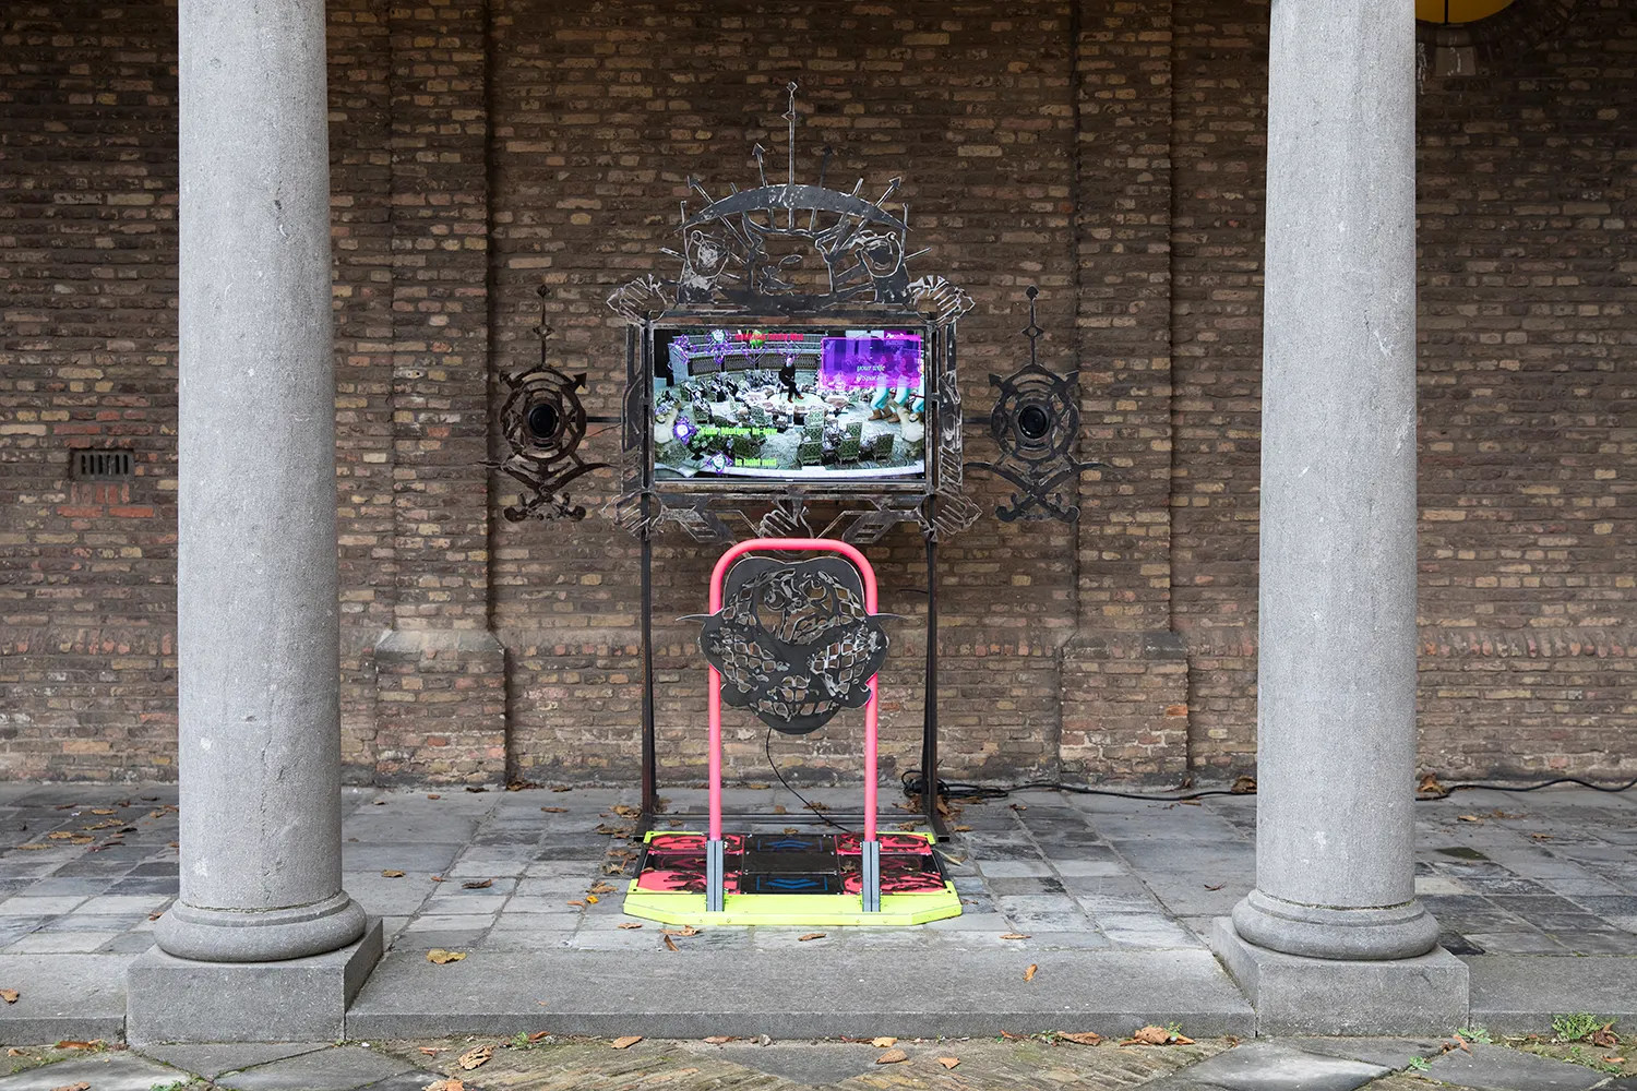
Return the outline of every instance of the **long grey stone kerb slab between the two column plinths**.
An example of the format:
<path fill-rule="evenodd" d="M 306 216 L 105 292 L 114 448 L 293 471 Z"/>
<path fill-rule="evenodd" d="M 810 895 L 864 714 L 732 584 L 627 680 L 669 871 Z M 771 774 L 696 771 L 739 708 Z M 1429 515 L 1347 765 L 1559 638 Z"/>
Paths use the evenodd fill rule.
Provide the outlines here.
<path fill-rule="evenodd" d="M 725 929 L 724 929 L 725 931 Z M 715 959 L 704 936 L 683 952 L 473 952 L 432 965 L 395 952 L 347 1014 L 347 1037 L 450 1032 L 877 1034 L 1130 1032 L 1179 1021 L 1190 1035 L 1254 1032 L 1254 1012 L 1203 950 L 766 950 Z M 1033 980 L 1023 975 L 1038 965 Z M 714 983 L 714 985 L 712 985 Z"/>

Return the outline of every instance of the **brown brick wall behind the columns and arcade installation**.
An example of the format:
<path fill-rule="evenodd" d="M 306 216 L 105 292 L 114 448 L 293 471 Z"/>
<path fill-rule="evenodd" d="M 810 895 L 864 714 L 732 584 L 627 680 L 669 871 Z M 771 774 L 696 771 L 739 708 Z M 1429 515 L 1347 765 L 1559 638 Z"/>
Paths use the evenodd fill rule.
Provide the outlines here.
<path fill-rule="evenodd" d="M 0 18 L 0 775 L 165 777 L 174 751 L 175 8 Z M 943 548 L 954 775 L 1249 770 L 1265 0 L 329 3 L 344 759 L 359 780 L 632 779 L 637 543 L 512 525 L 485 458 L 535 358 L 619 406 L 602 298 L 660 268 L 691 173 L 904 177 L 918 268 L 977 301 L 969 412 L 1017 366 L 1082 370 L 1077 527 L 989 517 Z M 1581 0 L 1421 97 L 1423 764 L 1637 764 L 1637 21 Z M 1486 54 L 1488 56 L 1488 54 Z M 589 456 L 614 461 L 616 430 Z M 987 438 L 969 432 L 969 456 Z M 70 481 L 120 447 L 126 486 Z M 493 487 L 491 487 L 493 486 Z M 985 509 L 1010 489 L 969 476 Z M 596 509 L 599 471 L 576 491 Z M 884 770 L 918 757 L 918 535 L 869 550 L 894 654 Z M 660 754 L 702 772 L 692 630 L 712 550 L 655 550 Z M 809 780 L 856 725 L 776 739 Z M 761 730 L 728 767 L 768 779 Z"/>

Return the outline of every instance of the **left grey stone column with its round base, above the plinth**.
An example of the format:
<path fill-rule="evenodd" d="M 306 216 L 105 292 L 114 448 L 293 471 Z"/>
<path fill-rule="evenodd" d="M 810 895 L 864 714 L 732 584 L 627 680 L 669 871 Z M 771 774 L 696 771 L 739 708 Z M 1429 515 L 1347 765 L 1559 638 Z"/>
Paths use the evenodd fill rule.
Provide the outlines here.
<path fill-rule="evenodd" d="M 172 955 L 363 932 L 340 888 L 322 0 L 180 5 L 182 896 Z"/>

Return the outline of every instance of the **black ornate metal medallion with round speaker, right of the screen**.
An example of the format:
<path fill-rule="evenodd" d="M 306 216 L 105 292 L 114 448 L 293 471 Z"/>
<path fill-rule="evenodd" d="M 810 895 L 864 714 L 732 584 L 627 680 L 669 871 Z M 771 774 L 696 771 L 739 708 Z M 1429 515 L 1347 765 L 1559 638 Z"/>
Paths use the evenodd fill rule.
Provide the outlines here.
<path fill-rule="evenodd" d="M 1035 316 L 1038 296 L 1039 288 L 1030 285 L 1028 329 L 1023 330 L 1028 363 L 1005 378 L 989 376 L 989 384 L 1000 391 L 989 414 L 989 433 L 1000 456 L 992 463 L 967 465 L 1000 474 L 1017 486 L 1012 507 L 995 509 L 1003 522 L 1056 519 L 1067 523 L 1080 517 L 1080 509 L 1064 492 L 1072 497 L 1080 473 L 1103 463 L 1074 458 L 1080 433 L 1080 409 L 1076 404 L 1080 375 L 1058 375 L 1039 365 L 1036 342 L 1046 330 Z"/>

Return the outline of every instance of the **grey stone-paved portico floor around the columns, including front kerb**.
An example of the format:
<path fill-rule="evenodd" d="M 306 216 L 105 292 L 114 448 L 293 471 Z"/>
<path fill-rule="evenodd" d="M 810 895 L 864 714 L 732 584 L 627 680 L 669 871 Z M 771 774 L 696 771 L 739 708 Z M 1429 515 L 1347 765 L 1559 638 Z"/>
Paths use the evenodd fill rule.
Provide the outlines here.
<path fill-rule="evenodd" d="M 688 811 L 702 793 L 666 795 L 661 828 L 697 828 Z M 809 795 L 856 806 L 850 792 Z M 915 824 L 884 798 L 886 829 Z M 809 824 L 784 790 L 730 800 Z M 1252 883 L 1254 797 L 1038 792 L 966 806 L 948 846 L 961 918 L 805 942 L 810 929 L 706 929 L 676 939 L 679 952 L 655 924 L 619 927 L 632 823 L 614 808 L 634 801 L 347 790 L 345 887 L 390 942 L 349 1037 L 535 1030 L 542 1012 L 558 1032 L 683 1037 L 874 1034 L 886 1017 L 899 1034 L 1041 1030 L 1067 1012 L 1131 1022 L 1121 1034 L 1139 1019 L 1254 1032 L 1200 939 Z M 174 803 L 172 787 L 0 788 L 0 985 L 23 991 L 0 1009 L 0 1039 L 120 1039 L 123 968 L 177 890 Z M 1527 1030 L 1552 1012 L 1637 1008 L 1634 793 L 1462 792 L 1418 805 L 1418 890 L 1472 967 L 1475 1021 Z M 434 967 L 432 947 L 468 959 Z M 735 986 L 701 993 L 724 978 Z"/>

